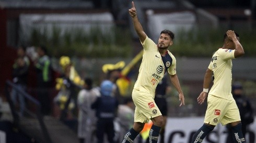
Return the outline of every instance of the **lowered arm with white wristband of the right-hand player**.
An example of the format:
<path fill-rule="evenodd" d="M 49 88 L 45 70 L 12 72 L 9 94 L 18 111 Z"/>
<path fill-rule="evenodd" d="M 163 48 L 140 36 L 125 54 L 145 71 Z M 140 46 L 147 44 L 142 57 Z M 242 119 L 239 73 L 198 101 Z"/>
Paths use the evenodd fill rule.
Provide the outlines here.
<path fill-rule="evenodd" d="M 210 87 L 210 83 L 212 81 L 212 74 L 213 71 L 210 69 L 207 69 L 204 75 L 204 85 L 203 85 L 203 92 L 199 95 L 199 97 L 197 98 L 197 102 L 202 105 L 202 103 L 204 102 L 204 100 L 207 97 L 207 93 L 208 93 L 208 89 Z M 207 91 L 206 91 L 207 90 Z"/>

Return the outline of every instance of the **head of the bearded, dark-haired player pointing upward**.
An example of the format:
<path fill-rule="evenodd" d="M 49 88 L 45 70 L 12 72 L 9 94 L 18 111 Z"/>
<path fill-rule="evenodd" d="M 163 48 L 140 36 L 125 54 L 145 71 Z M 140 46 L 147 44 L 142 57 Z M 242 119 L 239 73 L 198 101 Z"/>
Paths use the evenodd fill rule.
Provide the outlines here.
<path fill-rule="evenodd" d="M 170 30 L 163 30 L 158 39 L 158 48 L 166 49 L 173 44 L 174 33 Z"/>

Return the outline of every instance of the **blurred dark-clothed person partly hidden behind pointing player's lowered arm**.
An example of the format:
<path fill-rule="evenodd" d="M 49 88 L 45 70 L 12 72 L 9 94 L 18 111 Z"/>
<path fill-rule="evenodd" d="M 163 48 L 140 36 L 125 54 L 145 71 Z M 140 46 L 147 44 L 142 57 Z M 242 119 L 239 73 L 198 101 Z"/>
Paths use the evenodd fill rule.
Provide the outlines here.
<path fill-rule="evenodd" d="M 155 102 L 157 107 L 159 108 L 160 112 L 162 113 L 162 117 L 164 118 L 164 124 L 160 129 L 160 143 L 164 143 L 165 139 L 165 126 L 167 122 L 167 101 L 166 101 L 166 94 L 171 91 L 171 87 L 168 84 L 167 80 L 168 76 L 162 78 L 159 84 L 156 86 L 156 95 L 155 95 Z"/>

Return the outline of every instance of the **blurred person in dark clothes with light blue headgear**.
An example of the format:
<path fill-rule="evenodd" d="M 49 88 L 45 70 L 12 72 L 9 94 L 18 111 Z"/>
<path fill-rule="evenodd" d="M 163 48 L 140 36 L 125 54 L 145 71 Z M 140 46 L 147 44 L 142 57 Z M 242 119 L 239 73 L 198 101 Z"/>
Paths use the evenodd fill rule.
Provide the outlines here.
<path fill-rule="evenodd" d="M 97 142 L 102 143 L 104 133 L 109 143 L 114 142 L 114 118 L 118 109 L 118 100 L 112 96 L 116 86 L 111 81 L 103 81 L 100 85 L 101 96 L 92 103 L 91 108 L 96 109 Z"/>

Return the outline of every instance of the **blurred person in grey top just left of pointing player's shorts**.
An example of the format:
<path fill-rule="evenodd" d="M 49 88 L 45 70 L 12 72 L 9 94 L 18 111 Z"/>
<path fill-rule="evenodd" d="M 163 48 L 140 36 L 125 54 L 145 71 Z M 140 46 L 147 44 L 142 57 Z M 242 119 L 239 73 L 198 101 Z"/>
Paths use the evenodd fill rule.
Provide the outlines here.
<path fill-rule="evenodd" d="M 122 142 L 124 135 L 133 126 L 134 103 L 131 97 L 127 97 L 122 105 L 118 106 L 118 123 L 120 125 L 118 142 Z"/>

